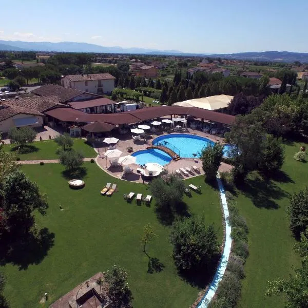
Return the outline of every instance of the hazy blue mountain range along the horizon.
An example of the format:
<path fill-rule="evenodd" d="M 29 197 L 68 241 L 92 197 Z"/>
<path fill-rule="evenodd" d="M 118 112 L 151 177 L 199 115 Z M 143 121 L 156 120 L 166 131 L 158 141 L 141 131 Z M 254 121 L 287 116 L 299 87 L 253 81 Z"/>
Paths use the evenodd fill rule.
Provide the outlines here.
<path fill-rule="evenodd" d="M 308 63 L 308 53 L 290 51 L 264 51 L 264 52 L 240 52 L 227 54 L 209 53 L 185 53 L 179 50 L 157 50 L 147 48 L 122 48 L 120 46 L 104 47 L 89 43 L 76 42 L 23 42 L 1 41 L 0 50 L 5 51 L 55 51 L 55 52 L 94 52 L 94 53 L 136 53 L 151 55 L 182 55 L 182 56 L 210 56 L 234 60 L 277 61 L 289 62 L 300 61 Z"/>

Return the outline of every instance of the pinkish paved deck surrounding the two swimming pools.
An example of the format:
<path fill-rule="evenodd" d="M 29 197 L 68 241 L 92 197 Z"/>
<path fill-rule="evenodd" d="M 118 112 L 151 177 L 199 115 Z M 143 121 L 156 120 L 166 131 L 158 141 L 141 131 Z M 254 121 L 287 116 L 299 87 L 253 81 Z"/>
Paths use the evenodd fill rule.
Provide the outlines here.
<path fill-rule="evenodd" d="M 179 132 L 172 132 L 172 134 L 179 134 Z M 199 130 L 192 130 L 190 128 L 188 128 L 188 131 L 183 132 L 183 133 L 189 133 L 189 134 L 196 134 L 200 137 L 205 137 L 208 138 L 212 141 L 220 141 L 223 142 L 223 138 L 220 138 L 218 136 L 214 136 L 208 133 L 204 133 L 202 131 Z M 163 133 L 163 134 L 167 134 L 167 133 Z M 162 136 L 163 134 L 155 134 L 152 133 L 151 134 L 151 138 L 148 139 L 148 142 L 151 142 L 153 139 Z M 181 134 L 181 132 L 180 132 Z M 133 140 L 131 138 L 131 134 L 126 134 L 126 135 L 119 135 L 119 136 L 113 136 L 116 137 L 119 140 L 119 142 L 115 145 L 115 148 L 117 148 L 118 150 L 122 151 L 123 154 L 121 156 L 125 156 L 125 155 L 130 155 L 131 153 L 127 152 L 126 148 L 127 147 L 132 147 L 133 152 L 136 151 L 140 151 L 140 150 L 145 150 L 148 146 L 147 143 L 143 143 L 143 142 L 138 142 L 138 143 L 133 143 Z M 97 150 L 98 152 L 100 152 L 100 156 L 97 159 L 98 164 L 100 165 L 100 167 L 105 170 L 109 175 L 115 177 L 115 178 L 122 178 L 123 180 L 127 180 L 130 182 L 137 182 L 137 183 L 143 183 L 143 180 L 141 178 L 141 175 L 137 173 L 137 168 L 140 168 L 139 165 L 137 164 L 131 164 L 129 167 L 133 169 L 133 172 L 129 175 L 126 175 L 125 177 L 121 177 L 122 175 L 122 167 L 111 167 L 109 160 L 111 159 L 105 159 L 102 158 L 103 153 L 105 152 L 105 147 L 103 145 L 99 145 L 96 144 L 95 146 L 95 150 Z M 199 167 L 200 172 L 194 172 L 192 171 L 188 176 L 183 175 L 183 179 L 186 178 L 191 178 L 194 176 L 199 176 L 204 174 L 203 170 L 202 170 L 202 162 L 200 159 L 187 159 L 187 158 L 182 158 L 179 161 L 174 161 L 171 160 L 171 162 L 167 165 L 164 166 L 165 169 L 167 169 L 169 172 L 174 172 L 177 169 L 180 168 L 191 168 L 191 166 L 194 165 L 196 167 Z M 107 166 L 107 168 L 106 168 Z M 219 167 L 219 171 L 230 171 L 232 169 L 232 166 L 225 164 L 225 163 L 221 163 L 220 167 Z M 144 181 L 146 182 L 146 181 Z"/>

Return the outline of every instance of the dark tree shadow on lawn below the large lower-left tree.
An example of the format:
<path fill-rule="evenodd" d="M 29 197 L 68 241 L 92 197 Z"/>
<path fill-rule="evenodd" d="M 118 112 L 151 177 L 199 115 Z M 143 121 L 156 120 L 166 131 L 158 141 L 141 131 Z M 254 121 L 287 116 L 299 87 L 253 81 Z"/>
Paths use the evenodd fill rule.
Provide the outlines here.
<path fill-rule="evenodd" d="M 0 264 L 12 263 L 19 269 L 27 269 L 30 264 L 40 264 L 54 245 L 54 233 L 43 228 L 37 234 L 29 233 L 18 242 L 9 243 L 1 249 Z"/>

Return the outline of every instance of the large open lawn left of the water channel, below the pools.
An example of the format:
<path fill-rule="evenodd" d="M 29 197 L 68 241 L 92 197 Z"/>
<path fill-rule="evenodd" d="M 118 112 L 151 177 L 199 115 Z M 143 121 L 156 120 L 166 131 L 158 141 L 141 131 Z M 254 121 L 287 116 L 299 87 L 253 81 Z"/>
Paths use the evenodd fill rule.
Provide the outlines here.
<path fill-rule="evenodd" d="M 182 280 L 171 258 L 168 242 L 169 226 L 163 226 L 151 207 L 137 206 L 123 200 L 123 194 L 134 191 L 147 195 L 148 186 L 130 183 L 108 176 L 96 164 L 85 163 L 86 186 L 71 190 L 61 176 L 60 164 L 25 165 L 23 170 L 48 196 L 46 216 L 36 215 L 37 227 L 47 227 L 54 233 L 54 245 L 38 264 L 20 270 L 17 265 L 2 268 L 7 284 L 5 296 L 11 307 L 48 307 L 54 300 L 99 271 L 113 264 L 127 269 L 135 308 L 188 307 L 199 289 Z M 117 183 L 119 191 L 112 197 L 100 196 L 107 183 Z M 214 223 L 222 239 L 222 222 L 217 190 L 204 183 L 203 177 L 187 181 L 202 185 L 202 194 L 192 192 L 185 197 L 190 213 Z M 64 210 L 59 209 L 62 205 Z M 160 273 L 147 273 L 148 258 L 142 252 L 141 236 L 145 224 L 150 223 L 158 237 L 149 243 L 147 252 L 158 258 L 164 268 Z M 38 303 L 44 293 L 48 303 Z"/>

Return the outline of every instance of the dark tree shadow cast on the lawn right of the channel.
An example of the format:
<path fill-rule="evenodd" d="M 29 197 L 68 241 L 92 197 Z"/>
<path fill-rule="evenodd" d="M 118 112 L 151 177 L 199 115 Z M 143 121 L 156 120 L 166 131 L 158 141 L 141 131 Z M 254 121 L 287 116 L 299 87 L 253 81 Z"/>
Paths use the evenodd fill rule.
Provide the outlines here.
<path fill-rule="evenodd" d="M 243 194 L 252 200 L 256 207 L 267 209 L 278 209 L 275 200 L 290 196 L 286 191 L 278 187 L 272 180 L 263 180 L 261 177 L 248 179 L 239 187 Z"/>

